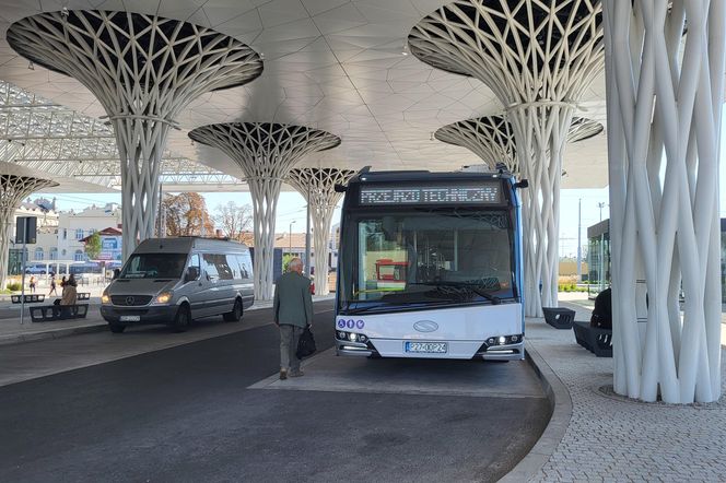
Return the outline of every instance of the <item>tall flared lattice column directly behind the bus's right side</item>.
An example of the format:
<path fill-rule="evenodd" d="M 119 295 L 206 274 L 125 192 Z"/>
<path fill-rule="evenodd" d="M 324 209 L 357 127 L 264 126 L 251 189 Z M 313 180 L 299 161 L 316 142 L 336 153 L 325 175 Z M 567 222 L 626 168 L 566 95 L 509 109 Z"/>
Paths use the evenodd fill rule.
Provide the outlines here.
<path fill-rule="evenodd" d="M 575 105 L 602 68 L 601 16 L 592 0 L 457 0 L 408 37 L 418 58 L 479 79 L 507 109 L 530 184 L 523 195 L 529 316 L 557 305 L 562 153 Z"/>

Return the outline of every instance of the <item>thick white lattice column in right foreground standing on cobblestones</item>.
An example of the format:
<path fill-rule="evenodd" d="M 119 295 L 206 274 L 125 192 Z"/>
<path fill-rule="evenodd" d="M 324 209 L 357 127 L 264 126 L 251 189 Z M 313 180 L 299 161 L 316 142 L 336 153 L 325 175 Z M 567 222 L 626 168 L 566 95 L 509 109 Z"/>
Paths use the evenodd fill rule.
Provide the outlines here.
<path fill-rule="evenodd" d="M 604 0 L 604 13 L 614 390 L 716 401 L 726 1 Z"/>

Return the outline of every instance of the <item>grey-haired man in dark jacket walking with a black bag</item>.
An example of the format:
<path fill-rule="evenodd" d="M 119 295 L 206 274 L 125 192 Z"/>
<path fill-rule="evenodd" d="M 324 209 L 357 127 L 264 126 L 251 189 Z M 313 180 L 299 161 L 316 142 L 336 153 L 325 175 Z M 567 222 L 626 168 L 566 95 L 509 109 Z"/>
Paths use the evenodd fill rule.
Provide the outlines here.
<path fill-rule="evenodd" d="M 313 326 L 311 281 L 303 276 L 303 260 L 293 258 L 276 282 L 274 323 L 280 327 L 280 379 L 300 377 L 297 341 L 306 326 Z"/>

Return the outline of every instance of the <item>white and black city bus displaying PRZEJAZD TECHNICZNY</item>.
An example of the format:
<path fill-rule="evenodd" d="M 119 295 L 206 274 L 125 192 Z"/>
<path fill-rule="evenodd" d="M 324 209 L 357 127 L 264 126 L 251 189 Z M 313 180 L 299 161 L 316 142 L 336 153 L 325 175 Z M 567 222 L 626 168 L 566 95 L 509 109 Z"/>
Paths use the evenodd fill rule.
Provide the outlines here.
<path fill-rule="evenodd" d="M 526 187 L 503 169 L 364 169 L 337 187 L 338 355 L 524 360 Z"/>

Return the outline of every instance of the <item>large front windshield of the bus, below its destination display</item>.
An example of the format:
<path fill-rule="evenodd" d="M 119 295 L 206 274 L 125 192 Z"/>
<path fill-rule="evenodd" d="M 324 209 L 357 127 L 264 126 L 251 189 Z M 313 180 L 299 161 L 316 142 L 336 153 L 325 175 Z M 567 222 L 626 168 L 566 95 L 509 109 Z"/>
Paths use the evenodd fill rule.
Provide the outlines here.
<path fill-rule="evenodd" d="M 351 213 L 341 244 L 340 309 L 500 304 L 517 297 L 506 210 Z M 352 248 L 352 249 L 351 249 Z"/>

